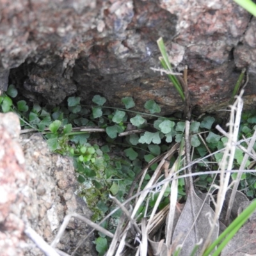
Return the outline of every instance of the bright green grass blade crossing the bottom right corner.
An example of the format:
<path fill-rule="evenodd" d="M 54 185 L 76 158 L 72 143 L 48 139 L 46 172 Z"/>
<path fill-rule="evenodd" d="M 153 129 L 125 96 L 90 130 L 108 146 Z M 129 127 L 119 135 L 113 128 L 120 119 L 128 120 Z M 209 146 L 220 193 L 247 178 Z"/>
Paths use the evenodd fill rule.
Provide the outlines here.
<path fill-rule="evenodd" d="M 212 256 L 217 256 L 220 254 L 221 250 L 227 245 L 227 243 L 232 239 L 232 237 L 236 234 L 236 232 L 241 228 L 241 226 L 245 223 L 246 220 L 250 217 L 250 215 L 256 209 L 256 200 L 252 202 L 237 218 L 234 220 L 225 230 L 224 232 L 205 250 L 203 256 L 209 255 L 211 251 L 220 244 L 217 250 L 212 254 Z M 226 237 L 227 236 L 227 237 Z M 218 254 L 219 253 L 219 254 Z"/>

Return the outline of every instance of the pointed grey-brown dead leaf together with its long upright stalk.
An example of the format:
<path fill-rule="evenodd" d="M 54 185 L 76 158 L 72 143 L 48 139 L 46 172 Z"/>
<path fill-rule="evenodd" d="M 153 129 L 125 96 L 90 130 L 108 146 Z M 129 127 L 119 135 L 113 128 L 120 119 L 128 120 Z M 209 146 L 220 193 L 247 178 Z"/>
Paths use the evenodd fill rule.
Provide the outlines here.
<path fill-rule="evenodd" d="M 188 166 L 189 174 L 189 177 L 186 179 L 186 191 L 188 193 L 188 198 L 173 232 L 173 240 L 177 240 L 177 237 L 180 237 L 181 239 L 182 248 L 179 253 L 180 256 L 190 255 L 190 253 L 193 252 L 193 248 L 201 241 L 201 239 L 204 241 L 207 239 L 211 228 L 211 241 L 214 241 L 218 237 L 219 231 L 217 225 L 212 226 L 212 216 L 214 216 L 214 211 L 196 195 L 195 189 L 193 188 L 190 166 L 189 124 L 189 121 L 186 121 L 185 148 L 186 165 Z M 198 247 L 202 250 L 203 244 L 200 244 Z M 201 250 L 198 250 L 195 255 L 199 255 Z"/>

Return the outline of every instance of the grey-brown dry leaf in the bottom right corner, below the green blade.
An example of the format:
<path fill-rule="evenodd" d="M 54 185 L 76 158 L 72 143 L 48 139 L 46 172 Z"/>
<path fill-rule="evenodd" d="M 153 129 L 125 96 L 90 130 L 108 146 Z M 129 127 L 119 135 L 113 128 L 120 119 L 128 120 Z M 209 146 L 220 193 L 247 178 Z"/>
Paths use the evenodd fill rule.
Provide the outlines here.
<path fill-rule="evenodd" d="M 256 219 L 246 223 L 228 245 L 222 250 L 221 256 L 245 256 L 256 253 Z"/>

